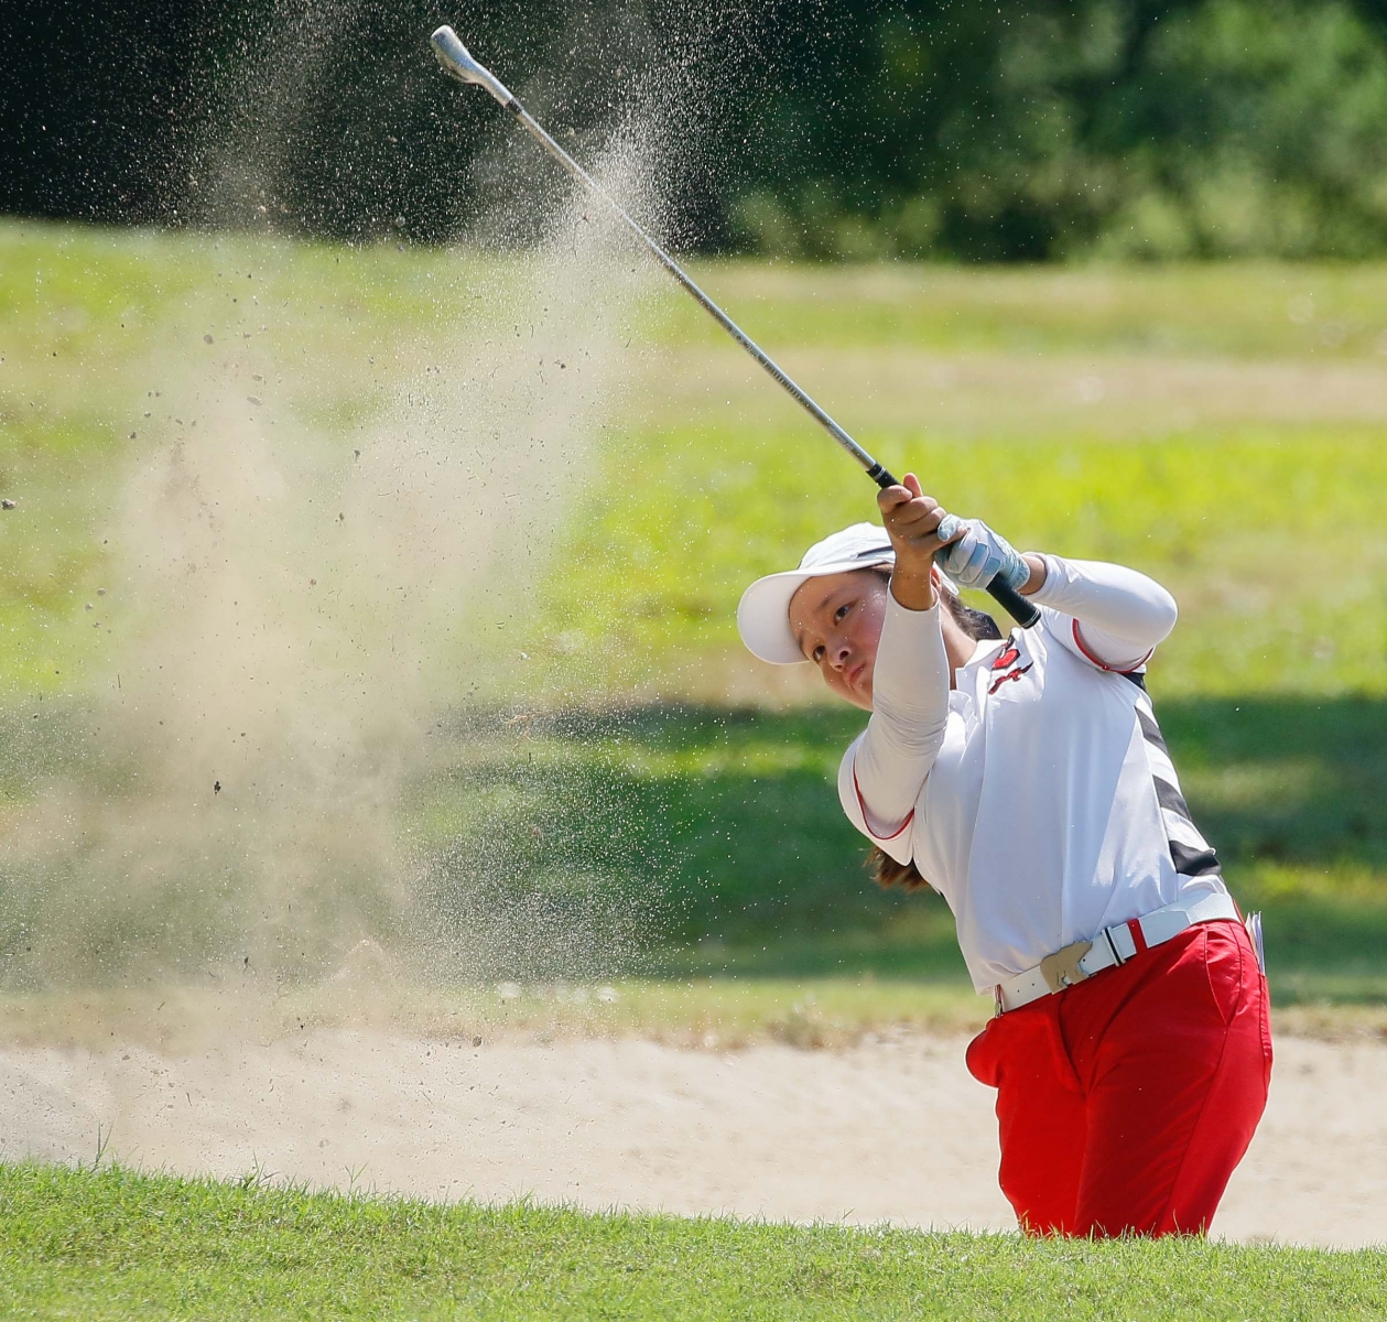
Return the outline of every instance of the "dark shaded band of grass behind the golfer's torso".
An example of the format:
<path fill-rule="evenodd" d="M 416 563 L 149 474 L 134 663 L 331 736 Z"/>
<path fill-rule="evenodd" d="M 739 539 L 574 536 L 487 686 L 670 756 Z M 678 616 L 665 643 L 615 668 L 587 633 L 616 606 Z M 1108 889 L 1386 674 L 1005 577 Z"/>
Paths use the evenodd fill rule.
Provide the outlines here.
<path fill-rule="evenodd" d="M 1387 999 L 1387 702 L 1160 712 L 1234 893 L 1265 910 L 1277 999 Z M 947 907 L 878 891 L 839 810 L 859 714 L 577 712 L 537 719 L 523 745 L 476 742 L 479 720 L 455 728 L 470 752 L 434 785 L 444 892 L 485 857 L 526 885 L 624 893 L 657 916 L 651 972 L 964 977 Z"/>

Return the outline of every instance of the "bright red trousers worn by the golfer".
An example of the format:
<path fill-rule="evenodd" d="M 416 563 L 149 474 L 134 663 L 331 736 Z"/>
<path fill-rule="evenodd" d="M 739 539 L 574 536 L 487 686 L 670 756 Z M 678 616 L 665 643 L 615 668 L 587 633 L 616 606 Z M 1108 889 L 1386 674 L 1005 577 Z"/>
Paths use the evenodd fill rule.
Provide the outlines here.
<path fill-rule="evenodd" d="M 1266 979 L 1240 922 L 1203 922 L 992 1020 L 968 1070 L 1022 1229 L 1200 1233 L 1266 1106 Z"/>

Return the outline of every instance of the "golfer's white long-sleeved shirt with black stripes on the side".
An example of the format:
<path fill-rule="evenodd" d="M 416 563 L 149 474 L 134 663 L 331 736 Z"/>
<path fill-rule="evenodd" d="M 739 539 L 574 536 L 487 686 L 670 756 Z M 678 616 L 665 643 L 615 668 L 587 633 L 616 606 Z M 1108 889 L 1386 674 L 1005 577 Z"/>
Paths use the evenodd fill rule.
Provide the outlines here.
<path fill-rule="evenodd" d="M 1044 562 L 1040 623 L 979 642 L 953 688 L 942 608 L 888 594 L 872 716 L 838 777 L 853 825 L 947 900 L 979 992 L 1223 891 L 1143 681 L 1175 601 L 1117 565 Z"/>

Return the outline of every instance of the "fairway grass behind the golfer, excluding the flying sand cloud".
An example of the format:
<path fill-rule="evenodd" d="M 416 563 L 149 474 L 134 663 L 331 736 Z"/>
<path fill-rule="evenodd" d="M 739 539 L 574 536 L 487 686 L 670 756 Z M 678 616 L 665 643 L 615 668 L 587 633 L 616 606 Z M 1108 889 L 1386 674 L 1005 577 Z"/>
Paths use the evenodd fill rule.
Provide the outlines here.
<path fill-rule="evenodd" d="M 1266 910 L 1277 1003 L 1387 1000 L 1387 268 L 698 273 L 951 508 L 1175 590 L 1151 691 L 1234 891 Z M 83 609 L 115 563 L 112 491 L 179 436 L 182 405 L 150 393 L 250 345 L 283 369 L 283 416 L 325 447 L 297 461 L 295 480 L 318 480 L 402 391 L 466 369 L 474 341 L 441 312 L 460 304 L 488 334 L 483 309 L 524 280 L 523 264 L 393 246 L 0 223 L 0 494 L 19 499 L 0 515 L 0 810 L 64 780 L 117 816 L 141 807 L 139 762 L 93 757 L 72 731 L 115 678 Z M 488 903 L 528 907 L 476 957 L 484 977 L 957 985 L 947 911 L 875 892 L 836 810 L 859 717 L 757 666 L 732 627 L 745 583 L 871 517 L 871 488 L 696 308 L 652 289 L 598 452 L 534 477 L 571 490 L 506 639 L 527 663 L 484 701 L 465 664 L 440 667 L 429 756 L 391 806 L 424 863 L 415 927 L 390 932 L 448 938 L 487 874 Z M 51 986 L 60 943 L 72 977 L 97 956 L 36 878 L 80 889 L 87 855 L 31 863 L 7 873 L 6 975 Z M 333 882 L 315 895 L 372 878 Z M 226 893 L 166 875 L 78 907 L 136 963 L 169 931 L 196 938 L 197 963 L 240 939 Z M 553 941 L 522 939 L 528 922 Z M 602 938 L 581 967 L 545 963 L 565 931 Z"/>

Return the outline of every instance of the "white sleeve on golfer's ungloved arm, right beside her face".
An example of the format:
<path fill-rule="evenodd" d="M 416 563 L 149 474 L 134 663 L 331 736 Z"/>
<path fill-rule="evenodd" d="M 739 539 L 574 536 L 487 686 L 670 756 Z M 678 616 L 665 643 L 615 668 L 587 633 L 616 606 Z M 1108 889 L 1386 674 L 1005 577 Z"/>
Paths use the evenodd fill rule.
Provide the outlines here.
<path fill-rule="evenodd" d="M 871 720 L 838 773 L 849 820 L 900 863 L 910 860 L 915 800 L 949 720 L 949 658 L 939 610 L 938 602 L 931 610 L 907 610 L 886 594 Z"/>

